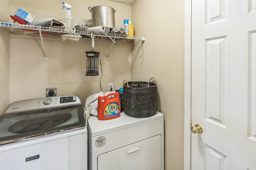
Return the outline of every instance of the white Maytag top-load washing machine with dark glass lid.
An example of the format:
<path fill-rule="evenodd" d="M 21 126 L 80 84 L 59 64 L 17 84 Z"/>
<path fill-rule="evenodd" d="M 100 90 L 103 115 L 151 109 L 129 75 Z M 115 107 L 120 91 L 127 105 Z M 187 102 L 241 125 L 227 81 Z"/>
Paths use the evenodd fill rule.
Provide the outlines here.
<path fill-rule="evenodd" d="M 87 129 L 78 96 L 12 103 L 0 116 L 0 170 L 87 170 Z"/>

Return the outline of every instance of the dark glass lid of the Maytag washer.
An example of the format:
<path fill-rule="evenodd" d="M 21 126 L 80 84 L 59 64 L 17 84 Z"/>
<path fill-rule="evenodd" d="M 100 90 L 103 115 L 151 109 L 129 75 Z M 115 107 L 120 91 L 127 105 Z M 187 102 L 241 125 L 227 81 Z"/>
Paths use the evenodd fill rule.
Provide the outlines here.
<path fill-rule="evenodd" d="M 4 114 L 0 116 L 0 145 L 84 126 L 81 104 Z"/>

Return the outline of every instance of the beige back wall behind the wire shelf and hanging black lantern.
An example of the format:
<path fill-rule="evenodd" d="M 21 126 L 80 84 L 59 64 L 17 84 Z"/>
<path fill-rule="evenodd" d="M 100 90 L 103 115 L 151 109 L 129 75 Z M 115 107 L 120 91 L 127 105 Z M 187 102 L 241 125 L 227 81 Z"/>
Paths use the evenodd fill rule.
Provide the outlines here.
<path fill-rule="evenodd" d="M 109 0 L 67 1 L 71 4 L 73 23 L 84 23 L 91 19 L 88 7 L 98 5 L 111 6 L 116 10 L 116 27 L 123 27 L 123 20 L 131 18 L 131 6 Z M 22 8 L 37 19 L 55 17 L 63 20 L 66 10 L 62 10 L 62 1 L 12 0 L 11 14 Z M 77 95 L 81 101 L 90 94 L 98 93 L 100 76 L 85 76 L 86 53 L 92 47 L 91 39 L 72 39 L 44 36 L 44 45 L 48 61 L 44 61 L 40 36 L 13 34 L 10 47 L 10 103 L 17 100 L 45 97 L 46 88 L 57 87 L 57 95 Z M 102 91 L 108 90 L 108 83 L 114 88 L 122 87 L 124 79 L 130 80 L 131 43 L 118 42 L 113 46 L 109 61 L 112 41 L 95 41 L 95 51 L 100 52 L 103 69 Z"/>

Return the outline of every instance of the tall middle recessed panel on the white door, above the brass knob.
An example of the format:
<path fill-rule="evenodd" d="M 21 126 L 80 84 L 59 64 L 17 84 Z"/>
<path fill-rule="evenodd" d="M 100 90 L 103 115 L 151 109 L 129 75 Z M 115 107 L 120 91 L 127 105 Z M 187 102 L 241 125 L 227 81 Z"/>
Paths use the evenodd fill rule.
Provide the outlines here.
<path fill-rule="evenodd" d="M 226 48 L 226 36 L 206 39 L 205 119 L 208 119 L 208 121 L 224 128 L 226 128 Z"/>

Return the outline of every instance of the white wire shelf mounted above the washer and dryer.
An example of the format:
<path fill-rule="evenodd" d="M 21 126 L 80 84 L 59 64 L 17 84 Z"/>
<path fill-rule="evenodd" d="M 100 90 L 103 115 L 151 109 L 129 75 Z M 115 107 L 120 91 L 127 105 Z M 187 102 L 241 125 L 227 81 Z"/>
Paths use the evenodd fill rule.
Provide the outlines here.
<path fill-rule="evenodd" d="M 130 40 L 140 40 L 145 41 L 145 37 L 139 36 L 126 36 L 126 35 L 118 35 L 118 34 L 106 34 L 93 32 L 91 35 L 90 31 L 79 31 L 79 30 L 72 30 L 72 29 L 60 29 L 60 28 L 53 28 L 53 27 L 42 27 L 42 26 L 35 26 L 35 25 L 23 25 L 18 23 L 8 23 L 0 21 L 0 27 L 5 27 L 10 29 L 13 33 L 24 33 L 24 34 L 41 34 L 42 35 L 55 35 L 55 36 L 62 36 L 62 37 L 70 37 L 70 38 L 92 38 L 94 39 L 106 39 L 108 40 L 109 37 L 114 39 L 115 41 L 127 41 Z"/>

